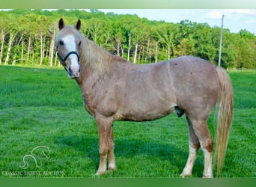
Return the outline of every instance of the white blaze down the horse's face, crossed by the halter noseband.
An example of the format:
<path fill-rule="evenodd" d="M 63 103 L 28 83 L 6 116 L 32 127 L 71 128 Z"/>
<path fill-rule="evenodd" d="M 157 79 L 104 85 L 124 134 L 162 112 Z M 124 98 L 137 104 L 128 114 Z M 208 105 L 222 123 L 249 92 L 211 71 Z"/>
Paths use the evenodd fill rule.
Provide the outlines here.
<path fill-rule="evenodd" d="M 67 49 L 68 52 L 76 52 L 76 39 L 73 35 L 67 35 L 62 39 L 65 43 L 65 48 Z M 78 58 L 75 54 L 71 54 L 69 56 L 71 64 L 70 64 L 70 70 L 72 70 L 73 75 L 79 74 L 79 62 Z"/>

